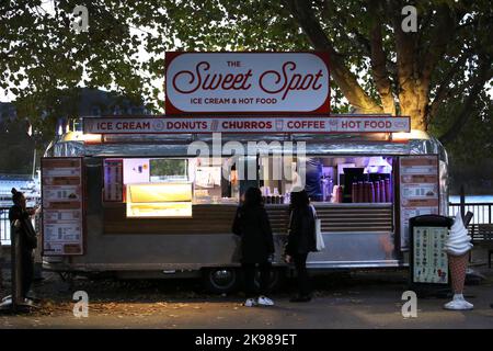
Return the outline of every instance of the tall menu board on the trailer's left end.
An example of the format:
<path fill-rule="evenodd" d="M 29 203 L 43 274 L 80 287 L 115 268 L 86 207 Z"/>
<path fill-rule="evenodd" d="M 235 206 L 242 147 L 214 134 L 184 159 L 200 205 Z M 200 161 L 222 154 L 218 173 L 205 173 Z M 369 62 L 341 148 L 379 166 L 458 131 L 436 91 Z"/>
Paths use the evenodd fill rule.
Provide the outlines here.
<path fill-rule="evenodd" d="M 43 254 L 83 254 L 82 158 L 42 159 Z"/>

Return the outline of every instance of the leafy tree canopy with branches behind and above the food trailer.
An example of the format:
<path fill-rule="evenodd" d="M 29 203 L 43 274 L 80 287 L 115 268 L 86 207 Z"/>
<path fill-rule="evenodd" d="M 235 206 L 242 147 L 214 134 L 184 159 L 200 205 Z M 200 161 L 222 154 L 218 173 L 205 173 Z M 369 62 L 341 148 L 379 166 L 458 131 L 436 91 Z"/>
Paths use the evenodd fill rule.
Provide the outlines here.
<path fill-rule="evenodd" d="M 76 4 L 89 10 L 89 32 L 71 27 Z M 402 31 L 405 4 L 417 9 L 416 33 Z M 410 115 L 460 144 L 491 137 L 491 33 L 489 0 L 2 1 L 0 87 L 28 116 L 57 113 L 83 86 L 162 111 L 152 81 L 165 50 L 318 49 L 331 54 L 335 112 Z"/>

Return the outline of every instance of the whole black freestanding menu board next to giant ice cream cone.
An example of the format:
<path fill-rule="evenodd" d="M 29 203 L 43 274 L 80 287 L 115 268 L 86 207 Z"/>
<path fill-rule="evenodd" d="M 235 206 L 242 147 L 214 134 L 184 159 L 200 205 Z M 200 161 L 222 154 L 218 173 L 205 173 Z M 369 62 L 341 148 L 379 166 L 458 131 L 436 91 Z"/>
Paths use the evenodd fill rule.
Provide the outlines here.
<path fill-rule="evenodd" d="M 452 218 L 438 215 L 410 218 L 410 288 L 417 295 L 450 294 L 445 242 L 452 224 Z"/>

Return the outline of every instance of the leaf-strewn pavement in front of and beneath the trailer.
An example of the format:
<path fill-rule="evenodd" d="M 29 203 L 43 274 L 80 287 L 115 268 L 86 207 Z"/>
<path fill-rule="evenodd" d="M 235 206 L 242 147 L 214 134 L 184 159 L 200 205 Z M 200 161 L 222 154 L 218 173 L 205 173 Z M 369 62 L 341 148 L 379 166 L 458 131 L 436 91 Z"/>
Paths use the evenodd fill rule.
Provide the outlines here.
<path fill-rule="evenodd" d="M 165 328 L 165 329 L 330 329 L 330 328 L 493 328 L 493 270 L 478 268 L 484 280 L 467 285 L 473 310 L 450 312 L 444 297 L 419 297 L 416 317 L 402 316 L 405 270 L 331 273 L 312 278 L 314 298 L 294 304 L 294 281 L 273 293 L 272 307 L 244 307 L 242 293 L 204 293 L 197 280 L 115 281 L 78 279 L 70 286 L 44 273 L 34 293 L 42 299 L 30 314 L 0 315 L 0 328 Z M 4 288 L 9 276 L 4 271 Z M 5 288 L 7 287 L 7 288 Z M 88 317 L 76 317 L 76 291 L 88 293 Z M 77 309 L 77 308 L 76 308 Z M 81 310 L 80 308 L 78 309 Z"/>

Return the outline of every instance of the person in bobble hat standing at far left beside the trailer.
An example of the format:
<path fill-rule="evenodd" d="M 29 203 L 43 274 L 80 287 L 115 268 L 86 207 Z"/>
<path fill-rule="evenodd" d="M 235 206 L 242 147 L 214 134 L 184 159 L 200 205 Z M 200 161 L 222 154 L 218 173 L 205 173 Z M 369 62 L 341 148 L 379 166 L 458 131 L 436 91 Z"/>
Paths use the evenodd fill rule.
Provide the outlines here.
<path fill-rule="evenodd" d="M 12 188 L 13 206 L 9 211 L 9 220 L 11 224 L 11 235 L 15 235 L 15 240 L 19 240 L 21 264 L 21 295 L 27 298 L 27 293 L 31 290 L 31 284 L 34 278 L 34 249 L 37 247 L 37 237 L 31 222 L 31 216 L 35 211 L 27 211 L 26 199 L 22 192 Z"/>

